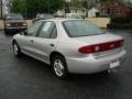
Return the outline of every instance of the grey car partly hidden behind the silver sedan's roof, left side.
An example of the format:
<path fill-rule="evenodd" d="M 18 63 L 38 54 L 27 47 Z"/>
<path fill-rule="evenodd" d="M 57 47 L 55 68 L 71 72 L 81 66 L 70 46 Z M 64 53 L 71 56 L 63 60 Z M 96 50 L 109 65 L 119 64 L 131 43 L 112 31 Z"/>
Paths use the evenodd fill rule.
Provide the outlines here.
<path fill-rule="evenodd" d="M 36 14 L 36 18 L 33 19 L 33 23 L 40 20 L 47 20 L 47 19 L 53 19 L 53 18 L 54 16 L 52 14 L 46 14 L 46 13 Z"/>

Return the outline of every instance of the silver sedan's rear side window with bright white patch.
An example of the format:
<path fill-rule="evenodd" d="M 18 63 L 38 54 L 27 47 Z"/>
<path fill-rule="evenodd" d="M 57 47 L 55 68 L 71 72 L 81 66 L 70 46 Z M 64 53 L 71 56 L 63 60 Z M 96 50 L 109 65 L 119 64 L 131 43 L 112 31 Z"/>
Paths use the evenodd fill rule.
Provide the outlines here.
<path fill-rule="evenodd" d="M 45 38 L 50 38 L 50 37 L 54 37 L 57 35 L 56 30 L 56 25 L 54 22 L 45 22 L 45 24 L 42 26 L 38 37 L 45 37 Z"/>

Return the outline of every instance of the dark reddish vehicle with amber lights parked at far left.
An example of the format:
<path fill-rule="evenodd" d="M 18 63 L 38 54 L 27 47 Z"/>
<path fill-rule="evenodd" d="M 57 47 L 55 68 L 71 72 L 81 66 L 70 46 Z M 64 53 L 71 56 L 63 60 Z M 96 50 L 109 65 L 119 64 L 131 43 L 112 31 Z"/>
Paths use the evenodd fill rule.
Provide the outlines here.
<path fill-rule="evenodd" d="M 10 13 L 4 16 L 4 33 L 20 32 L 28 28 L 28 24 L 21 14 Z"/>

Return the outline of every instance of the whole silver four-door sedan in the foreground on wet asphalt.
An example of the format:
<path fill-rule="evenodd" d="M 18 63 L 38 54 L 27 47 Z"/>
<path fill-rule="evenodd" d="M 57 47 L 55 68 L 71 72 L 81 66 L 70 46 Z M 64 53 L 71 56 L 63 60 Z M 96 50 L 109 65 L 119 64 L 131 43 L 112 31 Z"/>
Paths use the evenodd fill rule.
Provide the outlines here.
<path fill-rule="evenodd" d="M 77 19 L 37 21 L 12 40 L 15 56 L 22 53 L 50 64 L 58 78 L 68 73 L 92 74 L 118 67 L 125 50 L 123 38 Z"/>

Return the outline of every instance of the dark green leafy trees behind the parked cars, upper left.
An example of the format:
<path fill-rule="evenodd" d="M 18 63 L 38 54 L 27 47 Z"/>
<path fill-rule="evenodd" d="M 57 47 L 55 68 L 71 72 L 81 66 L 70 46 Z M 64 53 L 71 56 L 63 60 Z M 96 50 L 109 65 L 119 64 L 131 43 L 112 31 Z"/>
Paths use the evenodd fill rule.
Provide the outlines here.
<path fill-rule="evenodd" d="M 36 13 L 54 13 L 64 7 L 64 0 L 12 0 L 11 12 L 28 14 L 32 18 Z"/>

